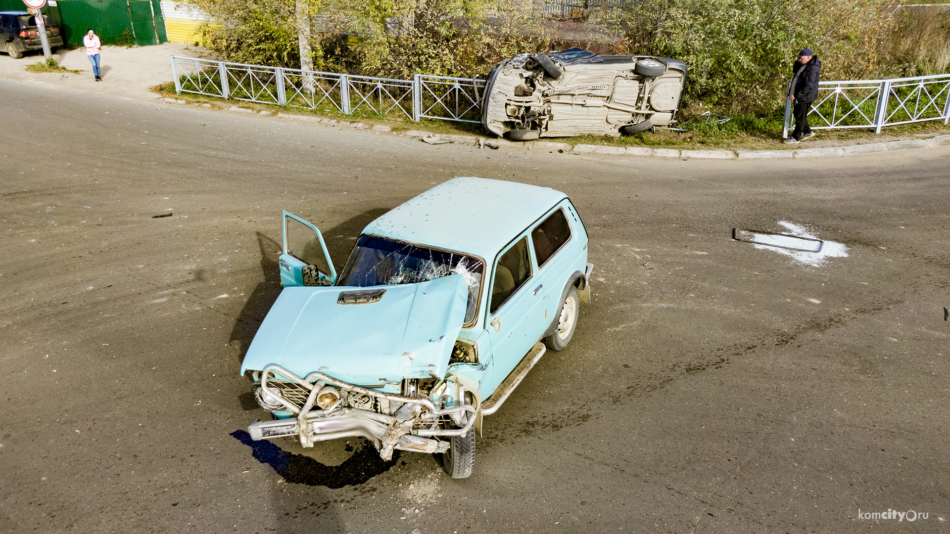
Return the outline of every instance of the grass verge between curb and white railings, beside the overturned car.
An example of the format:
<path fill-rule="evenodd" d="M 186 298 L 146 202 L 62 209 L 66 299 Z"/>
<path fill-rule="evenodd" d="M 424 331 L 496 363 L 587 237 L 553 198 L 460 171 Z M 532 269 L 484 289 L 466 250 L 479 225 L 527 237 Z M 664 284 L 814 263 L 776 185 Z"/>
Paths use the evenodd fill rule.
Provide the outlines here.
<path fill-rule="evenodd" d="M 370 114 L 345 115 L 331 109 L 321 109 L 314 111 L 299 107 L 257 104 L 236 100 L 225 100 L 206 95 L 175 92 L 174 82 L 168 82 L 159 86 L 150 87 L 164 97 L 174 98 L 176 100 L 185 100 L 189 104 L 209 104 L 218 108 L 226 108 L 232 105 L 248 107 L 258 110 L 272 110 L 296 115 L 308 115 L 328 119 L 337 119 L 350 123 L 362 122 L 365 124 L 385 124 L 392 128 L 394 132 L 409 130 L 424 130 L 440 134 L 456 134 L 492 137 L 485 134 L 482 124 L 457 123 L 454 121 L 439 121 L 433 119 L 424 119 L 419 123 L 413 123 L 409 118 L 381 118 Z M 783 115 L 776 114 L 770 117 L 756 117 L 754 115 L 733 115 L 730 121 L 725 124 L 705 123 L 697 119 L 683 124 L 686 131 L 674 131 L 667 129 L 656 129 L 654 132 L 639 133 L 629 137 L 612 137 L 606 135 L 584 135 L 570 138 L 544 138 L 542 141 L 555 141 L 571 144 L 601 144 L 614 146 L 650 146 L 650 147 L 670 147 L 670 148 L 695 148 L 695 149 L 722 149 L 722 150 L 767 150 L 788 148 L 782 142 Z M 817 142 L 830 142 L 828 144 L 847 144 L 847 142 L 878 142 L 890 141 L 891 138 L 912 137 L 915 135 L 927 134 L 948 134 L 950 127 L 945 126 L 940 121 L 917 124 L 901 124 L 897 126 L 887 126 L 883 129 L 881 136 L 876 136 L 871 128 L 863 129 L 841 129 L 841 130 L 816 130 L 818 136 L 814 138 Z"/>

